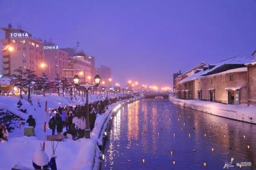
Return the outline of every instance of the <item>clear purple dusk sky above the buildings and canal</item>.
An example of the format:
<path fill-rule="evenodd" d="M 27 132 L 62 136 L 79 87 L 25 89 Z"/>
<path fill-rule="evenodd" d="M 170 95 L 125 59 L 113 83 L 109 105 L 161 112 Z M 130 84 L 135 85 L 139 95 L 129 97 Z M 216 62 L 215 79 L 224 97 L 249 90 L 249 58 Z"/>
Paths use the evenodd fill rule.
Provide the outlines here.
<path fill-rule="evenodd" d="M 255 8 L 255 0 L 1 0 L 0 26 L 20 23 L 60 48 L 78 40 L 114 82 L 172 85 L 174 72 L 201 61 L 251 57 Z"/>

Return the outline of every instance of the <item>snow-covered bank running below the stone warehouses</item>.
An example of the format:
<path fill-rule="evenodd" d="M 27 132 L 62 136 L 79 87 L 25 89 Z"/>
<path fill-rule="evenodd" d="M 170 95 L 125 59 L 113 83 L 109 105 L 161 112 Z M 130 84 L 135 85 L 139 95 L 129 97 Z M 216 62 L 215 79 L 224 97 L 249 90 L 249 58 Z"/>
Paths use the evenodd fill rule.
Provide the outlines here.
<path fill-rule="evenodd" d="M 256 107 L 248 107 L 245 104 L 222 104 L 200 100 L 183 100 L 173 96 L 170 97 L 170 100 L 173 104 L 186 108 L 256 124 Z"/>

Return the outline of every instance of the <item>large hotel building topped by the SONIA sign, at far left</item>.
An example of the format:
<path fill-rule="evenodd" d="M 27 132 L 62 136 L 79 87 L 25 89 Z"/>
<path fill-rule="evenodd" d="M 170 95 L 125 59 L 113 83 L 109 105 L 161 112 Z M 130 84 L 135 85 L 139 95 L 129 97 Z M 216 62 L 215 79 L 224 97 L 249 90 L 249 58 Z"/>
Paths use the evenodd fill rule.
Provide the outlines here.
<path fill-rule="evenodd" d="M 42 74 L 40 64 L 44 62 L 44 43 L 32 38 L 32 34 L 21 29 L 2 27 L 5 39 L 1 40 L 4 50 L 2 52 L 2 74 L 5 77 L 14 74 L 20 66 Z"/>

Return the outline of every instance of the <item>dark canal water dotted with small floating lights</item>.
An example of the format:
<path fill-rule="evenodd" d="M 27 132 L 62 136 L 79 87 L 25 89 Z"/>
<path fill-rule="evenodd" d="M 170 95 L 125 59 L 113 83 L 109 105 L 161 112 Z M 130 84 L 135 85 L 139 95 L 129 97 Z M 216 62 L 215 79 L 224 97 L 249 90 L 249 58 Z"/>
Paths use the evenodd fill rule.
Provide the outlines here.
<path fill-rule="evenodd" d="M 101 170 L 221 170 L 231 158 L 230 170 L 239 169 L 238 162 L 251 162 L 242 169 L 256 170 L 255 134 L 254 124 L 183 108 L 168 99 L 139 100 L 112 118 Z"/>

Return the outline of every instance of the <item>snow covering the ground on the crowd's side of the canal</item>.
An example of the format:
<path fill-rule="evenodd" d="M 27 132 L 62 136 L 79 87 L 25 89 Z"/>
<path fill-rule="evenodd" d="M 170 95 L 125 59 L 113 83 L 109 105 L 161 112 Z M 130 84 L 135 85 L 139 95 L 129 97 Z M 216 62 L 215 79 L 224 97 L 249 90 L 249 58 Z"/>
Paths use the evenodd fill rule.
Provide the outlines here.
<path fill-rule="evenodd" d="M 25 97 L 25 96 L 24 96 Z M 36 150 L 41 148 L 43 138 L 43 124 L 44 124 L 44 104 L 47 100 L 47 108 L 57 108 L 60 106 L 68 106 L 78 104 L 81 102 L 82 98 L 76 96 L 75 103 L 69 102 L 66 97 L 57 96 L 56 94 L 46 95 L 40 100 L 41 108 L 37 105 L 37 97 L 32 97 L 33 106 L 31 106 L 25 99 L 22 100 L 22 108 L 28 109 L 28 114 L 24 114 L 18 111 L 16 103 L 19 98 L 15 96 L 1 96 L 0 97 L 0 108 L 6 108 L 13 112 L 14 114 L 21 114 L 23 118 L 28 118 L 28 115 L 32 114 L 36 119 L 36 137 L 18 137 L 18 128 L 14 132 L 10 132 L 9 141 L 0 143 L 0 157 L 1 168 L 3 170 L 11 169 L 16 164 L 20 166 L 26 166 L 28 168 L 33 168 L 32 157 Z M 99 100 L 101 96 L 92 95 L 89 96 L 89 102 Z M 95 127 L 91 132 L 90 139 L 79 139 L 76 141 L 64 139 L 63 142 L 59 142 L 56 150 L 56 163 L 58 170 L 97 170 L 98 163 L 100 161 L 99 155 L 101 154 L 97 143 L 101 144 L 102 136 L 104 130 L 108 126 L 110 117 L 112 116 L 112 110 L 115 112 L 116 109 L 120 108 L 122 104 L 127 104 L 133 100 L 125 100 L 112 104 L 109 106 L 105 114 L 98 115 L 95 122 Z M 84 104 L 85 101 L 82 101 Z M 81 104 L 81 103 L 80 103 Z M 36 109 L 36 110 L 34 110 Z M 47 123 L 49 116 L 47 116 Z M 24 134 L 24 127 L 22 127 L 21 134 Z M 65 131 L 65 130 L 64 130 Z M 50 135 L 51 131 L 47 130 L 46 134 Z M 56 144 L 55 144 L 56 146 Z M 52 155 L 52 146 L 50 141 L 46 141 L 46 154 L 50 157 Z"/>

